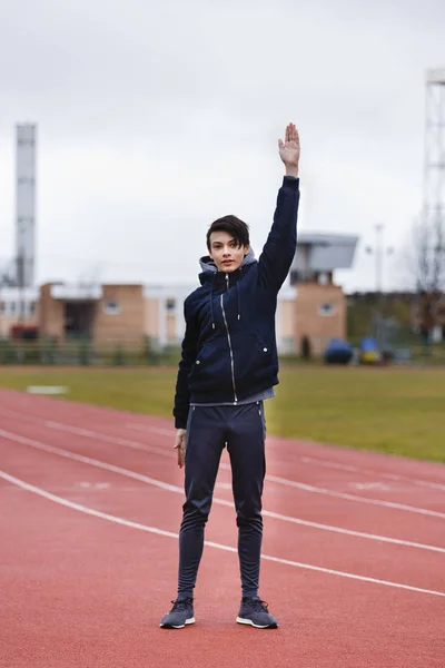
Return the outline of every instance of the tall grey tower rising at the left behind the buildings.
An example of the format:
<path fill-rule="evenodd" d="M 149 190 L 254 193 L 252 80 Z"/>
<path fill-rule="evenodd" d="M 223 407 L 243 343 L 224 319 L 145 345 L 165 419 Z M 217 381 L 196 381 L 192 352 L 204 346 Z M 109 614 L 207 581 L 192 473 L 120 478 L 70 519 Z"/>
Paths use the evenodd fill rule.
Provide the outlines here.
<path fill-rule="evenodd" d="M 17 285 L 34 284 L 36 230 L 36 126 L 18 125 L 16 181 Z"/>

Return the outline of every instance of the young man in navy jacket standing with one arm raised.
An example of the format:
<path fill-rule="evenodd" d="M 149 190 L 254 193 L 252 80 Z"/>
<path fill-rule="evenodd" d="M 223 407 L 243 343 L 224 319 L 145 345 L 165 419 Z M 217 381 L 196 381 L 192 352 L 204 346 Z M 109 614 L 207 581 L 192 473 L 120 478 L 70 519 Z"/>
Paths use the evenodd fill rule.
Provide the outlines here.
<path fill-rule="evenodd" d="M 277 294 L 294 259 L 299 202 L 299 137 L 295 125 L 278 141 L 286 176 L 258 261 L 243 220 L 226 216 L 207 233 L 201 286 L 185 302 L 186 334 L 175 396 L 178 464 L 186 465 L 179 536 L 179 583 L 162 628 L 195 622 L 194 588 L 221 452 L 227 445 L 238 525 L 243 598 L 237 622 L 277 628 L 258 597 L 265 478 L 263 402 L 278 383 Z"/>

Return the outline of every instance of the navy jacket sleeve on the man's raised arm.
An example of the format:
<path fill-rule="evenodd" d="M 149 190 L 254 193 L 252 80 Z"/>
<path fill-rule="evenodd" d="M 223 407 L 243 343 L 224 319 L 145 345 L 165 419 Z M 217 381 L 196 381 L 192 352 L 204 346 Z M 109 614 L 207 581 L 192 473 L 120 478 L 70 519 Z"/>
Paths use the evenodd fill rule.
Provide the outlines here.
<path fill-rule="evenodd" d="M 258 259 L 259 282 L 278 293 L 297 249 L 299 179 L 285 176 L 278 190 L 274 224 Z"/>

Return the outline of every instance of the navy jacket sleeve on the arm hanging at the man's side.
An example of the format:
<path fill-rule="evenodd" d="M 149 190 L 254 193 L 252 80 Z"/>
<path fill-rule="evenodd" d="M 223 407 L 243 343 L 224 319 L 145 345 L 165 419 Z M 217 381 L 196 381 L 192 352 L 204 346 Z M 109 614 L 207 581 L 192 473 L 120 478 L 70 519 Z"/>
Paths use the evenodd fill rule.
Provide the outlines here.
<path fill-rule="evenodd" d="M 181 360 L 179 362 L 178 376 L 175 393 L 175 428 L 186 429 L 188 411 L 190 405 L 190 390 L 188 386 L 188 374 L 195 364 L 198 350 L 198 327 L 195 315 L 190 313 L 188 299 L 184 304 L 184 317 L 186 320 L 186 333 L 182 340 Z"/>

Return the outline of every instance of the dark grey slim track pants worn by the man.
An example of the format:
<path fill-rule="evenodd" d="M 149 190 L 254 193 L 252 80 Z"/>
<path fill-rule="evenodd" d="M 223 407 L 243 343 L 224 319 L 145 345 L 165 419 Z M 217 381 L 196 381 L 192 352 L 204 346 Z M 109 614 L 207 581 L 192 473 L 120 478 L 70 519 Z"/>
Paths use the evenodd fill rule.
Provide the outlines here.
<path fill-rule="evenodd" d="M 187 424 L 186 502 L 179 534 L 179 597 L 192 597 L 219 460 L 227 444 L 238 525 L 243 596 L 258 593 L 266 473 L 263 402 L 191 406 Z"/>

